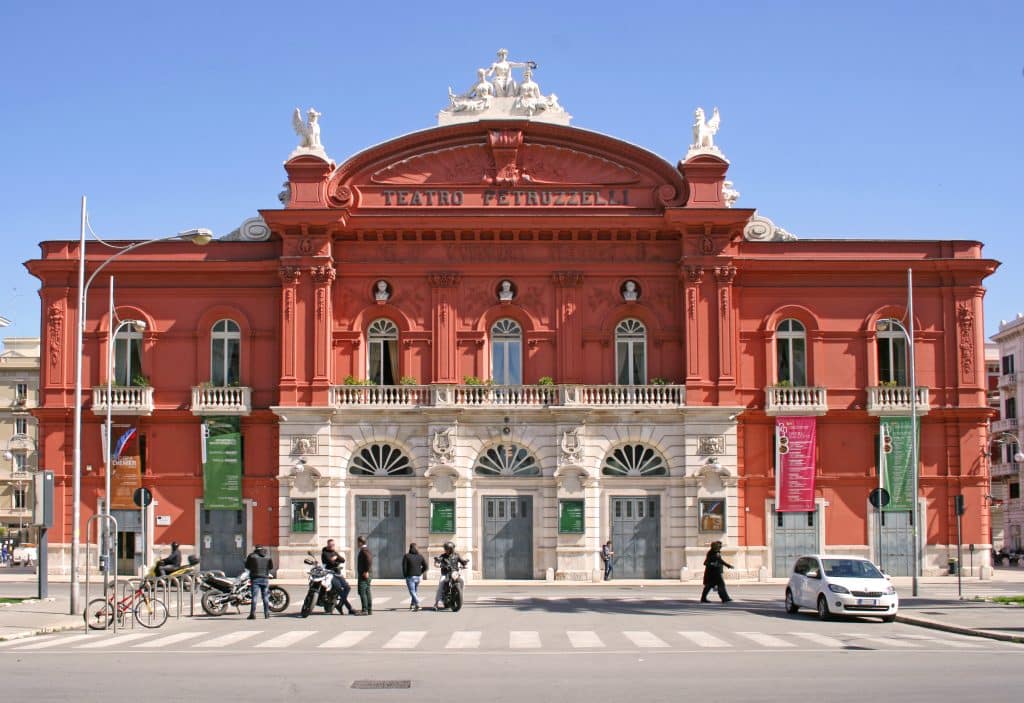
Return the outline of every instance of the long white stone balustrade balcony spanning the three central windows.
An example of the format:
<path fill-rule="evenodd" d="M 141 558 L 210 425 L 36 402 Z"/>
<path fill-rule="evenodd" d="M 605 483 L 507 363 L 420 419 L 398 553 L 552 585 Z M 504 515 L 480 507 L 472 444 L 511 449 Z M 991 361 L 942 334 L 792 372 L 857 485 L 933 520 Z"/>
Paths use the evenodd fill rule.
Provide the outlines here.
<path fill-rule="evenodd" d="M 683 407 L 685 386 L 332 386 L 334 407 Z"/>

